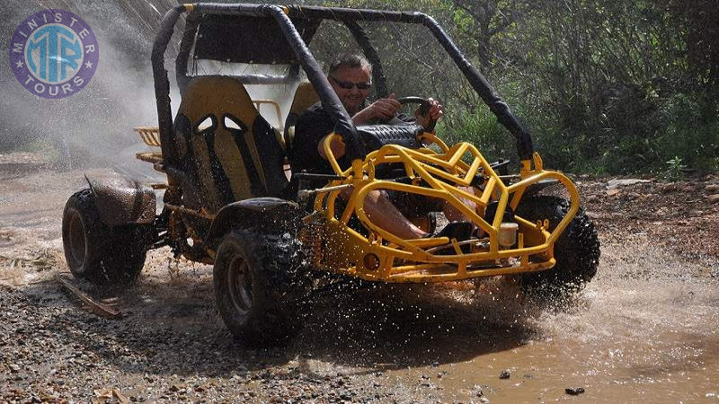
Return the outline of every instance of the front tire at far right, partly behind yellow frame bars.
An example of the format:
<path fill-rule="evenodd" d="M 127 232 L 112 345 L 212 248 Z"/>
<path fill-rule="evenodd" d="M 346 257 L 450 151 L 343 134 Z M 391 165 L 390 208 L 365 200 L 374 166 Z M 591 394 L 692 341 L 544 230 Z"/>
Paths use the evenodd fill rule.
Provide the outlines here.
<path fill-rule="evenodd" d="M 532 222 L 549 220 L 549 231 L 569 212 L 570 202 L 546 195 L 525 198 L 516 214 Z M 580 208 L 555 242 L 554 268 L 522 275 L 522 287 L 541 297 L 563 297 L 580 291 L 597 274 L 599 237 L 589 216 Z"/>

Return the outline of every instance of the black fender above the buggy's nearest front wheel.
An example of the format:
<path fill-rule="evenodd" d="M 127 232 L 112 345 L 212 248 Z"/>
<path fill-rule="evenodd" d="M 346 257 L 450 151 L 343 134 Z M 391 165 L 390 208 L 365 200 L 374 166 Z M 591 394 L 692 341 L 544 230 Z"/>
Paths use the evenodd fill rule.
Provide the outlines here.
<path fill-rule="evenodd" d="M 217 212 L 205 244 L 215 246 L 223 235 L 237 227 L 262 226 L 266 233 L 291 233 L 294 228 L 290 226 L 299 223 L 302 216 L 299 205 L 286 199 L 249 198 L 233 202 Z"/>

